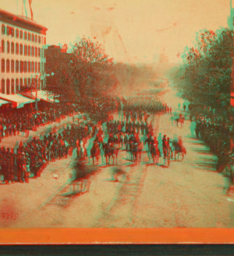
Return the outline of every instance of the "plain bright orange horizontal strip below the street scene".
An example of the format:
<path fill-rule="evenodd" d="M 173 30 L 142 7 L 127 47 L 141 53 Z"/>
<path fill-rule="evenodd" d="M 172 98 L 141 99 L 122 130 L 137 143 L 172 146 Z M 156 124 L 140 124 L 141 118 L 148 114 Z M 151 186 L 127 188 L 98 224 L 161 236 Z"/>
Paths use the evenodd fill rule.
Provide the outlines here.
<path fill-rule="evenodd" d="M 234 243 L 234 229 L 1 229 L 0 243 Z"/>

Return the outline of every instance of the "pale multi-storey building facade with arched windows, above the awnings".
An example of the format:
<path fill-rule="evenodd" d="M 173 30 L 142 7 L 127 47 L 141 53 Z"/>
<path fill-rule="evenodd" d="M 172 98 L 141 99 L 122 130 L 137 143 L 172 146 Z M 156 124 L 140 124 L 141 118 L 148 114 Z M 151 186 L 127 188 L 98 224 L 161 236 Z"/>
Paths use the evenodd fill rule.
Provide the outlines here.
<path fill-rule="evenodd" d="M 11 95 L 24 86 L 45 85 L 46 27 L 0 9 L 0 92 Z"/>

